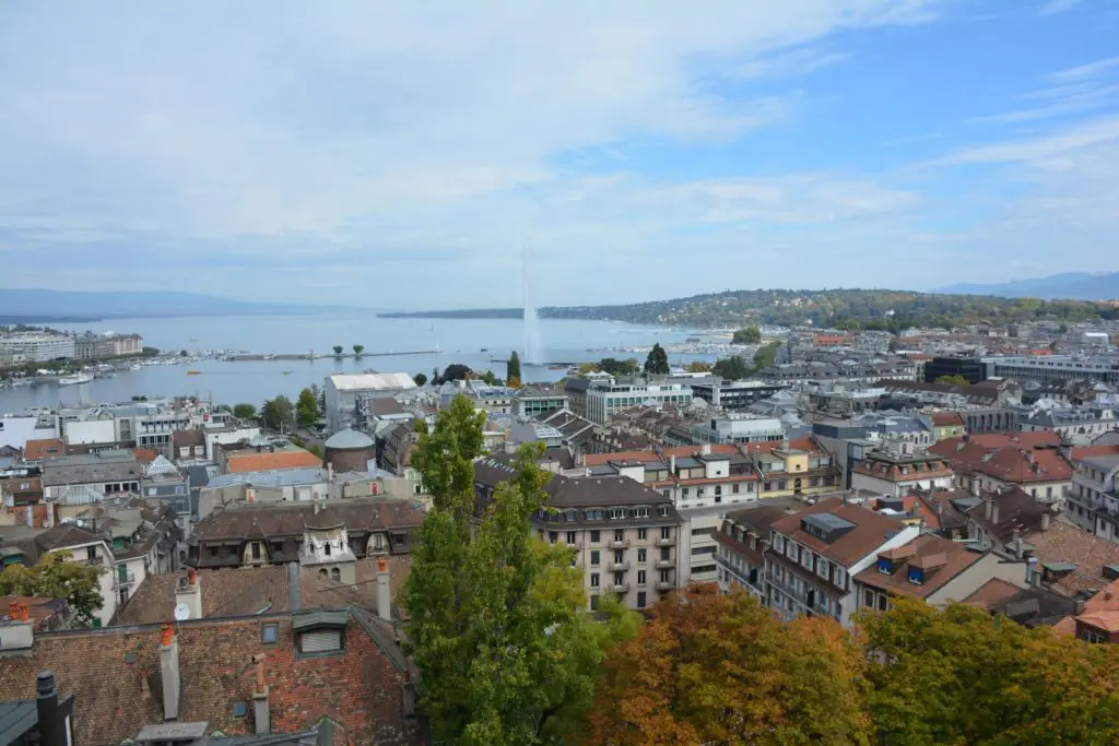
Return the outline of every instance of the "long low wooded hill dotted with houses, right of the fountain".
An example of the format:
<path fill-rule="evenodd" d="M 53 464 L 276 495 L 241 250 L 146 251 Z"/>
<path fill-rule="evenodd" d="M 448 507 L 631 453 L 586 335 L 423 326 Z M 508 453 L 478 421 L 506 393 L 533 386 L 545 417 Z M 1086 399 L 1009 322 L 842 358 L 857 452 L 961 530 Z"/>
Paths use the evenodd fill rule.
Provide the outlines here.
<path fill-rule="evenodd" d="M 1056 320 L 1119 319 L 1119 308 L 1089 301 L 948 295 L 888 290 L 741 290 L 628 305 L 543 308 L 546 319 L 600 319 L 684 327 L 799 325 L 899 333 Z"/>

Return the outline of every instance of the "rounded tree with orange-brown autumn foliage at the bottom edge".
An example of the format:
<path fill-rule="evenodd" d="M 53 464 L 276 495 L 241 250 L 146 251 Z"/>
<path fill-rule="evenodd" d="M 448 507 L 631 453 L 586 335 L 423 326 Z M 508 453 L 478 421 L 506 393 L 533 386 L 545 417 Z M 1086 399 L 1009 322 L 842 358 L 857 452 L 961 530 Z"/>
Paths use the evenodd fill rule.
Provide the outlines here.
<path fill-rule="evenodd" d="M 782 623 L 750 594 L 693 585 L 609 651 L 593 744 L 869 744 L 862 650 L 828 618 Z"/>

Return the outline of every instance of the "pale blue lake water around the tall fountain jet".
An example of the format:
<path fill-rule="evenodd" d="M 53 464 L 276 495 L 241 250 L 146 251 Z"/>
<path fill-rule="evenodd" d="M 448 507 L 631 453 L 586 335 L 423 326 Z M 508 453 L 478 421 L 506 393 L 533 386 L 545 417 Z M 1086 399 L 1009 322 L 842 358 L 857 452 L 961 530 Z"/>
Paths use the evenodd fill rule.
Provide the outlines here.
<path fill-rule="evenodd" d="M 0 413 L 30 407 L 56 407 L 59 404 L 125 402 L 133 396 L 195 395 L 218 404 L 247 402 L 258 405 L 265 398 L 284 394 L 294 398 L 300 389 L 335 372 L 423 372 L 442 370 L 461 362 L 474 370 L 492 370 L 505 377 L 509 352 L 524 343 L 519 319 L 380 319 L 354 317 L 195 317 L 176 319 L 115 319 L 92 324 L 63 325 L 75 331 L 137 332 L 144 343 L 161 350 L 245 350 L 260 353 L 330 352 L 335 344 L 347 351 L 365 346 L 365 357 L 322 360 L 271 360 L 227 362 L 205 360 L 189 368 L 200 371 L 188 376 L 188 366 L 151 366 L 123 371 L 113 378 L 98 378 L 79 386 L 43 384 L 0 389 Z M 540 363 L 523 366 L 526 381 L 555 380 L 563 370 L 549 370 L 548 363 L 585 362 L 603 357 L 638 357 L 612 353 L 603 348 L 649 346 L 684 341 L 686 329 L 633 327 L 605 321 L 543 320 L 538 322 Z M 430 350 L 440 350 L 432 352 Z M 481 350 L 487 350 L 482 352 Z M 419 352 L 378 357 L 377 352 Z M 499 359 L 500 362 L 491 361 Z M 673 358 L 686 362 L 688 358 Z M 288 371 L 285 374 L 285 371 Z"/>

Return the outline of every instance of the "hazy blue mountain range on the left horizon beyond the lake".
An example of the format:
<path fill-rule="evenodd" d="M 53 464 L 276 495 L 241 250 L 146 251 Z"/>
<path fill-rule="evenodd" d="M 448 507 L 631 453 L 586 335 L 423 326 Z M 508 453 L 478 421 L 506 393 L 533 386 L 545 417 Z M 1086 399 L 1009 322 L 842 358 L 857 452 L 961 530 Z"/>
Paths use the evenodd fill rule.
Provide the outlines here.
<path fill-rule="evenodd" d="M 0 323 L 49 323 L 152 317 L 231 317 L 337 313 L 341 305 L 257 303 L 172 292 L 85 292 L 0 289 Z"/>

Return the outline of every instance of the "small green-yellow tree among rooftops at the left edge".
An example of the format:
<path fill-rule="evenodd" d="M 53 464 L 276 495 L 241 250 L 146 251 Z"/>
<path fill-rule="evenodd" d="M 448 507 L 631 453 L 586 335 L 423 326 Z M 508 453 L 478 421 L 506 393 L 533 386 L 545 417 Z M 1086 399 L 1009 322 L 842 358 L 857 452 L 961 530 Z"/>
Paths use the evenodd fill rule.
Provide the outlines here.
<path fill-rule="evenodd" d="M 51 551 L 31 567 L 11 565 L 0 573 L 0 596 L 65 598 L 76 626 L 92 626 L 102 607 L 101 568 L 72 561 L 68 551 Z"/>

